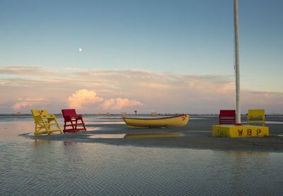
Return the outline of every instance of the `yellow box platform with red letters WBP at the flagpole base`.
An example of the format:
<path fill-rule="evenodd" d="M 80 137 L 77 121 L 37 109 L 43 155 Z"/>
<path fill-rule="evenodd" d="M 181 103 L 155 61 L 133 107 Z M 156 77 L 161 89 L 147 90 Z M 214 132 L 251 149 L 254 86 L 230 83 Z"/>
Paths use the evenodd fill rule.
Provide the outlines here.
<path fill-rule="evenodd" d="M 265 137 L 268 127 L 251 125 L 212 125 L 212 137 Z"/>

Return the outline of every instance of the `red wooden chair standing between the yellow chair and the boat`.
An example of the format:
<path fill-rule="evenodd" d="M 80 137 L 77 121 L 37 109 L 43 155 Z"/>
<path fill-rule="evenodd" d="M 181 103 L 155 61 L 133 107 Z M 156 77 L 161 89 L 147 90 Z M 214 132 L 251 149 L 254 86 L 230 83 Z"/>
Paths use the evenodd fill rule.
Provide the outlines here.
<path fill-rule="evenodd" d="M 62 114 L 64 117 L 64 133 L 79 132 L 81 130 L 86 131 L 86 127 L 84 126 L 83 122 L 83 117 L 81 115 L 77 115 L 75 109 L 64 109 L 62 110 Z M 81 120 L 81 122 L 78 122 L 78 120 Z M 78 125 L 83 125 L 83 127 L 79 128 Z"/>

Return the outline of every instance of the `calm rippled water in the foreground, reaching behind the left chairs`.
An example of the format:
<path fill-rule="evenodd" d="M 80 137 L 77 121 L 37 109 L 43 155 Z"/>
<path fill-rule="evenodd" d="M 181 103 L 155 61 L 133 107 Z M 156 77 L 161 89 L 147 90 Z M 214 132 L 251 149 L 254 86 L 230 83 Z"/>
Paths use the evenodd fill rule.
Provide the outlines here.
<path fill-rule="evenodd" d="M 119 117 L 86 117 L 86 122 L 100 129 L 122 124 Z M 283 195 L 282 153 L 112 146 L 18 136 L 33 133 L 33 126 L 29 117 L 0 120 L 0 195 Z"/>

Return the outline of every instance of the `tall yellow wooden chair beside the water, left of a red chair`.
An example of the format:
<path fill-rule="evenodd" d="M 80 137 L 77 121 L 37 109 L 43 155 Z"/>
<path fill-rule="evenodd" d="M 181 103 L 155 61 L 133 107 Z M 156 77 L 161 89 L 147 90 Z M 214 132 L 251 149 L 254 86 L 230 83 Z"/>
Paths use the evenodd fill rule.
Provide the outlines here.
<path fill-rule="evenodd" d="M 31 113 L 35 119 L 35 135 L 51 134 L 52 132 L 62 134 L 55 115 L 48 115 L 47 110 L 31 110 Z M 52 127 L 55 127 L 55 129 L 52 129 L 51 125 L 54 125 Z"/>

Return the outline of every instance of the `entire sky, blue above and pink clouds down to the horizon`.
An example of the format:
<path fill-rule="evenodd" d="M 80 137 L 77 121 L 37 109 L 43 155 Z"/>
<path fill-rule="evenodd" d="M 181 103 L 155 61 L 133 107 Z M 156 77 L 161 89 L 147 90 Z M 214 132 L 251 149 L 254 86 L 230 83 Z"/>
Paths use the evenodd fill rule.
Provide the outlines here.
<path fill-rule="evenodd" d="M 283 113 L 283 1 L 238 0 L 241 113 Z M 0 113 L 236 109 L 233 0 L 0 1 Z"/>

